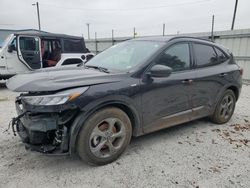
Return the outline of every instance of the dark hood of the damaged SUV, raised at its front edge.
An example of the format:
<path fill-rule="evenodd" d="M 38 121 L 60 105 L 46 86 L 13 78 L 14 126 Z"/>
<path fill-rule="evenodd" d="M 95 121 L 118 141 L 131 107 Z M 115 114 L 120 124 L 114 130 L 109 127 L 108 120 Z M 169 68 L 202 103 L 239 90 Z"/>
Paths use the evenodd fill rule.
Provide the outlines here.
<path fill-rule="evenodd" d="M 7 81 L 7 87 L 16 92 L 57 91 L 67 88 L 119 82 L 121 74 L 100 72 L 83 67 L 45 68 L 16 75 Z"/>

